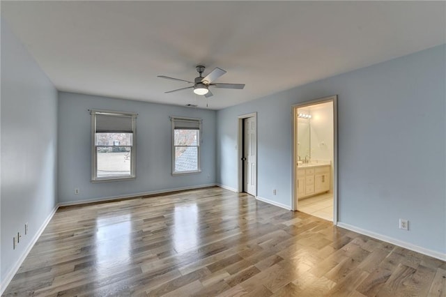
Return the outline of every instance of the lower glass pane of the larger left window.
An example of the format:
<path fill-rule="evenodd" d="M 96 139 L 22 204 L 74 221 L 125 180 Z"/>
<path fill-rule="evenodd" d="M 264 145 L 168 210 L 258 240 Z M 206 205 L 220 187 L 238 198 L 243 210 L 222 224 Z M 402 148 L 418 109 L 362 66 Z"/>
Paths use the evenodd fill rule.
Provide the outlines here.
<path fill-rule="evenodd" d="M 98 147 L 98 177 L 130 176 L 130 158 L 128 146 Z"/>

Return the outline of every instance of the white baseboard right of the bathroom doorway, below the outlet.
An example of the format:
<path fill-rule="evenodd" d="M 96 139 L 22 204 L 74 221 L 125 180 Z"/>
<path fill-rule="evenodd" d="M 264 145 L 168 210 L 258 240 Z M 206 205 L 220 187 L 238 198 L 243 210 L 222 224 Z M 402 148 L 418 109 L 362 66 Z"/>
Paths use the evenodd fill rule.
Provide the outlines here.
<path fill-rule="evenodd" d="M 442 261 L 446 261 L 446 254 L 443 254 L 441 252 L 436 252 L 434 250 L 429 250 L 426 248 L 422 248 L 418 245 L 413 245 L 412 243 L 406 243 L 406 241 L 399 241 L 398 239 L 389 237 L 389 236 L 385 236 L 383 234 L 378 234 L 372 231 L 368 231 L 365 229 L 361 229 L 355 226 L 352 226 L 351 224 L 345 224 L 343 222 L 338 222 L 337 223 L 337 227 L 341 227 L 344 229 L 348 229 L 350 231 L 354 231 L 356 233 L 362 234 L 362 235 L 367 235 L 370 236 L 372 238 L 376 238 L 379 239 L 380 241 L 385 241 L 387 243 L 392 243 L 394 245 L 398 245 L 401 248 L 406 248 L 408 250 L 413 250 L 414 252 L 419 252 L 420 254 L 426 254 L 429 257 L 433 257 L 436 259 L 440 259 Z"/>

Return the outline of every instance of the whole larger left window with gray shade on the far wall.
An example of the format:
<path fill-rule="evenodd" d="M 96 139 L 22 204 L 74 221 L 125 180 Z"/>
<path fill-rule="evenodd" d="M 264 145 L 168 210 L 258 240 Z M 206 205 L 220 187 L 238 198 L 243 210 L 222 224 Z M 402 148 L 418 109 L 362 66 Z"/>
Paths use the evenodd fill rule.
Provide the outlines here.
<path fill-rule="evenodd" d="M 91 110 L 92 181 L 135 177 L 137 114 Z"/>

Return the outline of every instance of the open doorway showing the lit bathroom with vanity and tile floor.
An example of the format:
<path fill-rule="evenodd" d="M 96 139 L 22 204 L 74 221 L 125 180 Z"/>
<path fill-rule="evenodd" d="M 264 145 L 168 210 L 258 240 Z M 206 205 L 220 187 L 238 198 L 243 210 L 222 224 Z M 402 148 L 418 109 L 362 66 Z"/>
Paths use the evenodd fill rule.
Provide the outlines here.
<path fill-rule="evenodd" d="M 293 105 L 293 210 L 337 223 L 337 96 Z"/>

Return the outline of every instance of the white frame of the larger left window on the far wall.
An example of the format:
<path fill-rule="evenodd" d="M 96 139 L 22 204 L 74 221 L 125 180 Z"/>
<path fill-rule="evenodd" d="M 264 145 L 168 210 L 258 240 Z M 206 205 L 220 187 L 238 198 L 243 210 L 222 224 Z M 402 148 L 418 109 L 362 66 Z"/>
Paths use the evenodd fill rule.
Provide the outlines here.
<path fill-rule="evenodd" d="M 137 115 L 134 112 L 116 112 L 103 109 L 89 109 L 91 114 L 91 182 L 101 183 L 107 181 L 128 181 L 136 178 L 136 156 L 137 156 Z M 98 146 L 96 145 L 96 115 L 128 116 L 132 118 L 132 146 L 130 149 L 130 176 L 98 177 Z"/>

